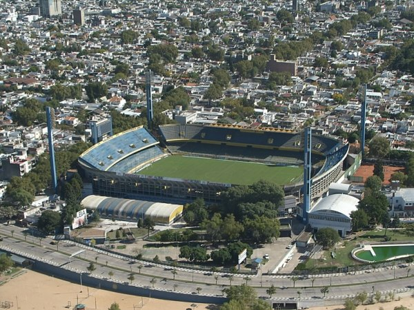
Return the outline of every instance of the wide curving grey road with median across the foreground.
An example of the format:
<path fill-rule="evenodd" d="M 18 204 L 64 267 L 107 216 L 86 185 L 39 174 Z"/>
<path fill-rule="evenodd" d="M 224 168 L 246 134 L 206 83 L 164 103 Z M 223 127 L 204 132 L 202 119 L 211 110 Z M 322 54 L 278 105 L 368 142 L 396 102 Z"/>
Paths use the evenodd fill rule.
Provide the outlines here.
<path fill-rule="evenodd" d="M 12 233 L 13 231 L 13 233 Z M 366 291 L 381 291 L 383 293 L 394 291 L 413 290 L 414 268 L 408 265 L 400 265 L 388 269 L 375 271 L 359 271 L 355 274 L 336 273 L 333 275 L 317 275 L 315 278 L 306 278 L 293 281 L 290 276 L 257 275 L 249 276 L 240 274 L 206 273 L 191 269 L 177 268 L 174 275 L 172 267 L 157 265 L 139 260 L 130 260 L 117 254 L 108 254 L 101 249 L 94 249 L 75 244 L 68 240 L 61 240 L 58 245 L 50 245 L 51 238 L 39 239 L 35 236 L 23 235 L 27 229 L 14 226 L 0 225 L 0 249 L 9 249 L 17 254 L 34 256 L 53 265 L 62 268 L 74 269 L 81 273 L 87 273 L 90 262 L 94 262 L 97 269 L 92 275 L 97 278 L 111 278 L 120 282 L 128 282 L 128 275 L 134 273 L 135 280 L 132 285 L 151 287 L 183 293 L 196 293 L 201 288 L 200 294 L 207 296 L 222 296 L 223 289 L 228 285 L 242 285 L 243 283 L 255 287 L 258 296 L 268 297 L 266 289 L 275 285 L 277 293 L 272 300 L 286 299 L 315 299 L 322 298 L 322 287 L 329 287 L 326 298 L 344 299 L 347 296 Z M 59 251 L 57 251 L 59 249 Z M 77 254 L 73 257 L 73 254 Z M 141 269 L 138 266 L 142 265 Z M 413 272 L 411 272 L 413 270 Z M 112 271 L 113 275 L 108 273 Z M 81 276 L 80 276 L 81 277 Z M 79 277 L 79 282 L 80 282 Z M 152 278 L 156 279 L 151 283 Z M 175 278 L 175 280 L 173 280 Z M 217 281 L 217 285 L 216 285 Z M 298 293 L 300 292 L 300 293 Z"/>

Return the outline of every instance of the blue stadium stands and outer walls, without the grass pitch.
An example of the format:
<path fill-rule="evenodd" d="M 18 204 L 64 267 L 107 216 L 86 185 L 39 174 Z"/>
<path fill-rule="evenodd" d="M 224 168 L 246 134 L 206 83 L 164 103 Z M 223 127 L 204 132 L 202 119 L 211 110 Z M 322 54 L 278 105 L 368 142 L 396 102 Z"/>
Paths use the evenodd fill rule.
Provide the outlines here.
<path fill-rule="evenodd" d="M 144 127 L 122 132 L 79 156 L 93 194 L 119 198 L 158 198 L 184 203 L 195 198 L 215 202 L 228 184 L 136 174 L 142 167 L 171 154 L 218 157 L 273 165 L 303 165 L 301 132 L 234 125 L 159 127 L 159 140 Z M 343 171 L 348 145 L 331 136 L 313 134 L 312 198 L 320 196 Z M 160 144 L 161 143 L 161 144 Z M 163 148 L 160 147 L 163 146 Z M 286 194 L 300 195 L 303 181 L 286 184 Z"/>

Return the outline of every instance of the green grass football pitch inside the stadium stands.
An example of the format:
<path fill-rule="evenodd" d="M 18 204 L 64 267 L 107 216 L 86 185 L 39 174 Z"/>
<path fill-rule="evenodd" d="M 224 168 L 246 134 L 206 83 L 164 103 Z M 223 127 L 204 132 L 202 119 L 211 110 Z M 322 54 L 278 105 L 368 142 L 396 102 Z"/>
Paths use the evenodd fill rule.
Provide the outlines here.
<path fill-rule="evenodd" d="M 175 155 L 152 163 L 137 174 L 237 185 L 251 185 L 258 180 L 269 180 L 283 185 L 299 179 L 303 168 Z"/>

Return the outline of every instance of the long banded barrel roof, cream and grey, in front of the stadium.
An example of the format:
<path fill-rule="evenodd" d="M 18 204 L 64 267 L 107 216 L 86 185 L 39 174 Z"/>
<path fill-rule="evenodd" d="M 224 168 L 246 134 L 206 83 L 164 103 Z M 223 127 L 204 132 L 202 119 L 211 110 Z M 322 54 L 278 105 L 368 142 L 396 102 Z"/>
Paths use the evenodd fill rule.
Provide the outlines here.
<path fill-rule="evenodd" d="M 149 217 L 155 223 L 164 225 L 170 225 L 183 211 L 182 205 L 95 195 L 83 198 L 81 205 L 96 210 L 106 218 L 137 221 Z"/>

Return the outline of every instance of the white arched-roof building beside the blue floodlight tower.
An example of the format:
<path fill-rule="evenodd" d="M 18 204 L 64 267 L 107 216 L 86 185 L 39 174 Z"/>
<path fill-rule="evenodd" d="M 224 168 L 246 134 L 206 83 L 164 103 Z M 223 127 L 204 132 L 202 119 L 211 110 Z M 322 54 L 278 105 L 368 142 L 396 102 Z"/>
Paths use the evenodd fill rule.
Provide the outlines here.
<path fill-rule="evenodd" d="M 351 212 L 358 203 L 357 198 L 345 194 L 326 196 L 309 212 L 309 225 L 315 230 L 331 227 L 344 237 L 351 232 Z"/>

